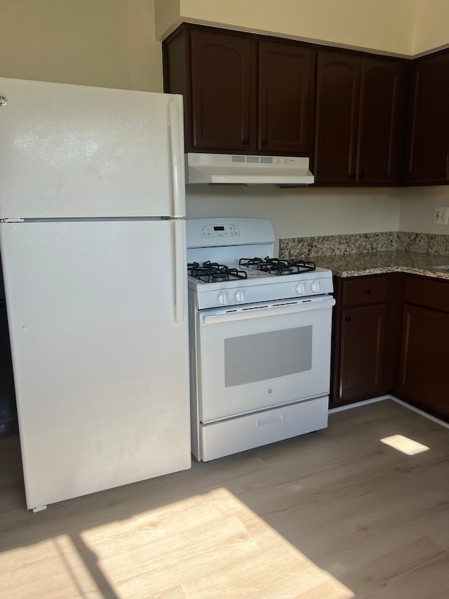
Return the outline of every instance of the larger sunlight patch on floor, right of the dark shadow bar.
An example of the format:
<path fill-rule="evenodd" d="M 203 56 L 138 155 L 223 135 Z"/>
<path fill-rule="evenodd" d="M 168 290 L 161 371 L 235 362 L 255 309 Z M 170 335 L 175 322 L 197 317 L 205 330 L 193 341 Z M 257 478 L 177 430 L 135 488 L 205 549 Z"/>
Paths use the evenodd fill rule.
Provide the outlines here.
<path fill-rule="evenodd" d="M 145 588 L 187 598 L 354 598 L 223 488 L 81 537 L 119 597 Z"/>

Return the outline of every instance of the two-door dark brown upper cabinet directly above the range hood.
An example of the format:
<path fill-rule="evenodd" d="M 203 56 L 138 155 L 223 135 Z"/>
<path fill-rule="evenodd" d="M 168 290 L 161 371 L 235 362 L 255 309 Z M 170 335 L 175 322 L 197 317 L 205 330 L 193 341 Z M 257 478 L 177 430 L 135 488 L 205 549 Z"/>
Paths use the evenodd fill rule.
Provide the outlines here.
<path fill-rule="evenodd" d="M 164 91 L 185 97 L 186 151 L 310 155 L 316 51 L 182 26 L 163 42 Z"/>

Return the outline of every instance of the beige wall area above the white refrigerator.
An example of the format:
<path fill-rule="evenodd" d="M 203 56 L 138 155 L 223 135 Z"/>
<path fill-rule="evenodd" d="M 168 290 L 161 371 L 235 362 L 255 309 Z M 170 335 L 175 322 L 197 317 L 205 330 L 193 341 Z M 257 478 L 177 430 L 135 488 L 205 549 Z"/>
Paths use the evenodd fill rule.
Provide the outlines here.
<path fill-rule="evenodd" d="M 162 91 L 154 0 L 1 0 L 0 77 Z"/>

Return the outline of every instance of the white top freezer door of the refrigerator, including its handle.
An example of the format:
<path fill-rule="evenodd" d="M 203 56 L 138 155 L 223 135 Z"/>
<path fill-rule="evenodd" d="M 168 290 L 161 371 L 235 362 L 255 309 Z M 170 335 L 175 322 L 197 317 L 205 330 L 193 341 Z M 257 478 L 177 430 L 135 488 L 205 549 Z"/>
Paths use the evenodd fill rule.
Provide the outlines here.
<path fill-rule="evenodd" d="M 182 96 L 1 79 L 0 218 L 185 216 Z"/>

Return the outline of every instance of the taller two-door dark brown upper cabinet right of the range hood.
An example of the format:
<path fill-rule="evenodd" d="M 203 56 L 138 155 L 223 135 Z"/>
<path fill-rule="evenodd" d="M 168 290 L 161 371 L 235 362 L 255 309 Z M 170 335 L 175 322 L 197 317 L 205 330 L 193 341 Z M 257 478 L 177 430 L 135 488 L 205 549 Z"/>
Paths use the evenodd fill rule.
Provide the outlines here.
<path fill-rule="evenodd" d="M 401 182 L 403 61 L 319 52 L 316 183 Z"/>

